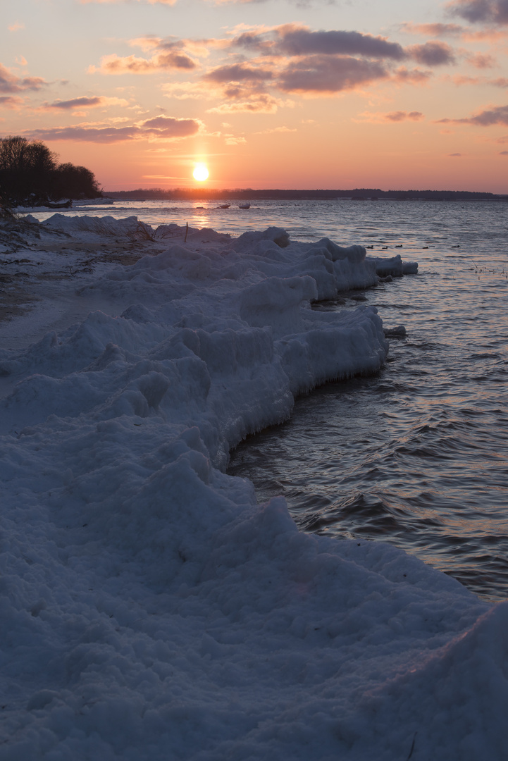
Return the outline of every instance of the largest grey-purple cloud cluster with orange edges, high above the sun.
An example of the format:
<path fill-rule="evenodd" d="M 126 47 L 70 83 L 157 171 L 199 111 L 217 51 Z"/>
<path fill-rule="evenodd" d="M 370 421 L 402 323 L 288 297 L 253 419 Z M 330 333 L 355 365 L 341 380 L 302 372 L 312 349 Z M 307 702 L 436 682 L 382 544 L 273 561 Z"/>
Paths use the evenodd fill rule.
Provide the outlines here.
<path fill-rule="evenodd" d="M 431 25 L 427 27 L 430 31 Z M 433 30 L 437 29 L 456 32 L 462 27 L 434 25 Z M 162 89 L 166 97 L 178 100 L 219 99 L 221 102 L 208 113 L 275 113 L 277 91 L 316 97 L 362 91 L 385 80 L 418 86 L 429 81 L 433 68 L 456 63 L 452 47 L 440 40 L 404 48 L 387 37 L 348 30 L 315 31 L 302 24 L 240 24 L 220 40 L 146 35 L 130 40 L 130 44 L 145 55 L 103 56 L 89 72 L 198 72 L 200 76 L 193 81 L 166 82 Z M 223 53 L 222 60 L 215 57 L 213 65 L 205 65 L 213 50 Z M 401 65 L 411 60 L 425 68 Z M 477 56 L 471 61 L 485 67 L 491 59 Z"/>

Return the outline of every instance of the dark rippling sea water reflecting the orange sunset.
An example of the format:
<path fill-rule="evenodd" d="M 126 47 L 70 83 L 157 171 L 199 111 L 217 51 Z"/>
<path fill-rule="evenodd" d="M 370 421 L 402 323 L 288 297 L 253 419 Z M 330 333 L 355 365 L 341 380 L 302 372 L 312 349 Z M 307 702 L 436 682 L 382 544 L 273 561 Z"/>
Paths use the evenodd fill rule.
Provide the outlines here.
<path fill-rule="evenodd" d="M 408 275 L 314 308 L 373 304 L 391 339 L 376 377 L 327 384 L 284 425 L 249 437 L 229 472 L 259 501 L 282 494 L 302 530 L 382 540 L 487 600 L 508 596 L 508 204 L 256 201 L 81 205 L 241 234 L 270 225 L 375 256 L 418 261 Z M 43 219 L 49 216 L 37 213 Z"/>

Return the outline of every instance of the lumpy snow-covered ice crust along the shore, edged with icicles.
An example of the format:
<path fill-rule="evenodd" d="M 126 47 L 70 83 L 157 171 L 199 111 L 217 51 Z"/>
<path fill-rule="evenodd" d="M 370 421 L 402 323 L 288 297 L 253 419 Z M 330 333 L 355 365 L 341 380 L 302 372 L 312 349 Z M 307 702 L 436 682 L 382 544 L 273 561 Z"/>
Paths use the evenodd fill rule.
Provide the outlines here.
<path fill-rule="evenodd" d="M 380 367 L 375 309 L 309 304 L 373 282 L 361 247 L 190 231 L 90 279 L 122 317 L 3 352 L 2 761 L 506 758 L 508 604 L 224 473 L 297 393 Z"/>

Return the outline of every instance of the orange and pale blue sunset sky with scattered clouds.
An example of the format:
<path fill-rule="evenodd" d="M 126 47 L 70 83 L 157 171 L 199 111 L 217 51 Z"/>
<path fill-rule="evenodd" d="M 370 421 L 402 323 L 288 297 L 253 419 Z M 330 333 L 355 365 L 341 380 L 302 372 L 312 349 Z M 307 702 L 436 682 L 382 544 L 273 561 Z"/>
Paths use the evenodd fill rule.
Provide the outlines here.
<path fill-rule="evenodd" d="M 508 193 L 508 0 L 16 0 L 1 34 L 0 135 L 105 189 Z"/>

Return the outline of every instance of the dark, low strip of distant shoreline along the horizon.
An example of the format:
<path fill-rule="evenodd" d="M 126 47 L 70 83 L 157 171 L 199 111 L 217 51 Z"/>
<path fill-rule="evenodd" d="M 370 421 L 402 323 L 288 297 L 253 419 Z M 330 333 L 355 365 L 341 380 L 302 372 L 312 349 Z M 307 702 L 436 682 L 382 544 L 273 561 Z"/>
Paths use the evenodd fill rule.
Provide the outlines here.
<path fill-rule="evenodd" d="M 103 190 L 103 197 L 125 201 L 158 200 L 208 200 L 238 199 L 244 201 L 316 201 L 350 199 L 354 201 L 508 201 L 508 194 L 477 193 L 468 190 L 379 190 L 377 188 L 355 188 L 354 190 L 283 190 L 265 189 L 205 189 L 138 188 L 136 190 Z"/>

